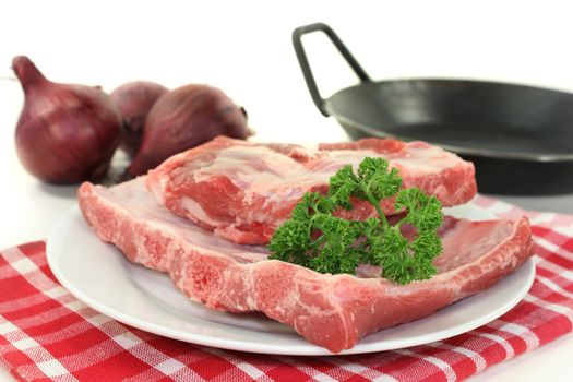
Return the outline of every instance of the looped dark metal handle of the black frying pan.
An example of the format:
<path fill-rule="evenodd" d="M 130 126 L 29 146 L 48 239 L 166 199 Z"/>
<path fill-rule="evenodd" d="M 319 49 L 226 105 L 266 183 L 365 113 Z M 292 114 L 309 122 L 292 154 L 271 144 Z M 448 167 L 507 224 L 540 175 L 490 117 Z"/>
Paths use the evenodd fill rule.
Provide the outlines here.
<path fill-rule="evenodd" d="M 354 70 L 358 79 L 360 79 L 361 82 L 370 82 L 370 77 L 365 72 L 362 67 L 358 63 L 358 61 L 354 58 L 353 53 L 346 48 L 344 43 L 341 40 L 341 38 L 334 33 L 334 31 L 324 23 L 314 23 L 309 24 L 305 26 L 299 26 L 295 31 L 293 31 L 293 45 L 295 46 L 295 52 L 297 53 L 298 63 L 300 64 L 300 69 L 302 70 L 302 75 L 305 76 L 305 81 L 307 82 L 307 87 L 309 88 L 310 96 L 312 97 L 312 100 L 314 102 L 314 105 L 319 108 L 320 112 L 324 117 L 329 117 L 329 110 L 326 110 L 326 107 L 324 106 L 325 100 L 320 95 L 319 88 L 317 86 L 317 82 L 314 81 L 314 75 L 312 75 L 312 70 L 310 69 L 309 60 L 307 58 L 307 52 L 305 51 L 305 47 L 302 46 L 301 37 L 308 33 L 312 32 L 324 32 L 326 36 L 331 39 L 332 44 L 338 49 L 338 52 L 343 56 L 343 58 L 346 60 L 346 62 L 350 65 L 350 68 Z"/>

